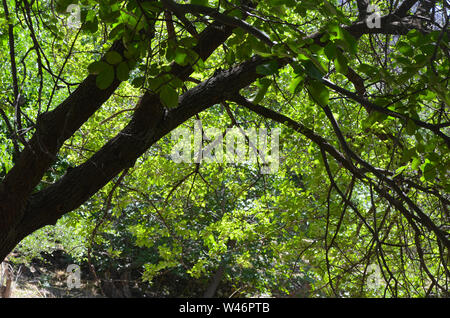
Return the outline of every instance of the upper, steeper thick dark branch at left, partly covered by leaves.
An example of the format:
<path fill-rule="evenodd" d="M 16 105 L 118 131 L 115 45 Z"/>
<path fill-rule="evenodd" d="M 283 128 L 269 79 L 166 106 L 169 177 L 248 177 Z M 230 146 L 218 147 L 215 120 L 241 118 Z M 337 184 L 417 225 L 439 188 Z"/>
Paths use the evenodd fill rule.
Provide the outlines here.
<path fill-rule="evenodd" d="M 231 32 L 231 27 L 220 29 L 213 23 L 199 35 L 194 51 L 202 59 L 206 59 L 228 38 Z M 121 43 L 121 41 L 114 43 L 111 50 L 121 53 L 123 51 Z M 171 67 L 171 74 L 182 80 L 189 77 L 192 72 L 191 65 L 180 66 L 173 63 Z M 61 105 L 38 118 L 36 133 L 29 141 L 30 147 L 21 153 L 16 165 L 10 170 L 0 187 L 0 215 L 2 211 L 15 210 L 2 206 L 11 198 L 16 198 L 14 203 L 16 208 L 24 203 L 45 171 L 54 162 L 64 141 L 101 107 L 119 84 L 120 81 L 115 79 L 110 87 L 102 90 L 96 86 L 96 76 L 89 75 Z M 19 182 L 19 180 L 27 180 L 27 182 Z M 0 219 L 0 229 L 3 224 L 8 224 L 7 220 L 2 222 Z"/>

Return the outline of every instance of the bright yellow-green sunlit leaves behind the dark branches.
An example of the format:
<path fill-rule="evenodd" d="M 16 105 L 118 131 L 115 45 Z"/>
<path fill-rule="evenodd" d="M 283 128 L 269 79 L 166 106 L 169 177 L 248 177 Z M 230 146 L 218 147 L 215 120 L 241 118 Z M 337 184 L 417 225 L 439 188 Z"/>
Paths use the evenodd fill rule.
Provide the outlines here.
<path fill-rule="evenodd" d="M 216 7 L 230 16 L 245 18 L 240 10 L 235 10 L 237 1 L 194 0 L 177 3 Z M 35 2 L 35 6 L 37 4 L 45 5 L 46 2 Z M 274 45 L 269 47 L 248 30 L 235 28 L 223 45 L 202 60 L 193 51 L 202 36 L 192 36 L 187 32 L 176 14 L 173 14 L 176 36 L 168 38 L 160 1 L 82 1 L 82 29 L 77 40 L 75 30 L 68 30 L 63 21 L 63 17 L 68 15 L 65 12 L 67 4 L 67 1 L 55 2 L 55 12 L 60 14 L 58 19 L 50 10 L 51 14 L 40 16 L 47 26 L 36 22 L 39 23 L 39 28 L 35 29 L 38 39 L 44 39 L 40 43 L 41 52 L 45 52 L 45 58 L 49 59 L 48 63 L 44 60 L 46 68 L 51 65 L 58 67 L 55 70 L 59 69 L 59 66 L 65 65 L 66 54 L 70 55 L 61 74 L 61 81 L 64 82 L 60 82 L 55 89 L 55 101 L 50 108 L 57 107 L 67 98 L 68 92 L 75 87 L 73 83 L 83 80 L 86 68 L 101 89 L 109 88 L 115 80 L 130 81 L 122 83 L 117 94 L 111 96 L 67 143 L 64 156 L 74 166 L 85 162 L 92 152 L 120 133 L 144 91 L 159 97 L 164 107 L 173 109 L 178 106 L 180 94 L 198 85 L 198 81 L 214 76 L 219 68 L 226 69 L 260 55 L 270 61 L 257 67 L 255 77 L 259 80 L 242 89 L 242 95 L 301 122 L 327 140 L 330 146 L 344 153 L 341 140 L 320 107 L 329 105 L 350 149 L 365 162 L 376 166 L 377 172 L 386 173 L 386 180 L 392 179 L 402 189 L 402 195 L 420 205 L 427 215 L 438 219 L 436 215 L 439 213 L 436 211 L 441 202 L 433 198 L 433 194 L 448 191 L 448 149 L 441 139 L 418 123 L 426 121 L 441 125 L 442 133 L 447 134 L 448 131 L 448 127 L 444 127 L 448 121 L 446 104 L 450 100 L 446 34 L 411 31 L 407 35 L 371 34 L 355 39 L 343 26 L 356 21 L 354 2 L 257 1 L 255 11 L 250 12 L 252 15 L 245 21 L 268 34 Z M 42 8 L 39 10 L 45 11 Z M 195 24 L 199 32 L 214 20 L 214 17 L 204 15 L 186 14 L 185 17 Z M 1 56 L 7 57 L 8 41 L 3 32 L 6 21 L 0 21 L 0 42 L 5 48 Z M 14 22 L 15 28 L 22 30 L 18 20 Z M 354 31 L 352 28 L 348 30 Z M 17 56 L 22 58 L 33 43 L 25 40 L 26 36 L 21 32 L 16 34 Z M 75 41 L 73 50 L 70 49 L 71 41 Z M 113 42 L 123 44 L 123 52 L 108 51 Z M 23 68 L 19 63 L 19 74 L 26 74 L 23 90 L 29 100 L 35 101 L 39 91 L 36 89 L 39 85 L 36 78 L 39 77 L 30 76 L 36 70 L 33 51 L 31 49 L 28 57 L 24 58 Z M 281 63 L 276 60 L 280 61 L 280 58 L 289 59 L 290 66 L 279 65 Z M 93 60 L 96 62 L 88 66 L 89 61 Z M 174 64 L 177 70 L 192 66 L 192 77 L 182 81 L 173 76 L 171 65 Z M 363 91 L 349 78 L 350 68 L 361 77 Z M 0 97 L 7 105 L 11 99 L 8 95 L 10 76 L 4 70 L 0 72 L 3 72 L 2 84 L 5 87 Z M 57 73 L 47 74 L 44 70 L 44 74 L 43 95 L 48 97 L 57 80 Z M 378 105 L 386 112 L 395 111 L 409 119 L 362 107 L 353 98 L 328 89 L 323 84 L 324 79 L 353 96 Z M 33 119 L 35 108 L 26 105 L 21 110 Z M 8 115 L 14 112 L 13 108 L 5 109 Z M 104 122 L 105 118 L 115 114 L 112 120 Z M 198 116 L 205 127 L 215 126 L 223 131 L 234 121 L 244 128 L 262 121 L 267 126 L 275 125 L 230 101 L 214 105 Z M 24 119 L 24 122 L 27 120 Z M 7 131 L 4 123 L 0 125 L 3 131 Z M 183 126 L 191 128 L 192 122 L 188 121 Z M 400 266 L 403 266 L 398 259 L 399 251 L 406 255 L 402 260 L 406 262 L 404 266 L 412 268 L 412 259 L 417 259 L 414 249 L 410 248 L 414 240 L 410 237 L 412 232 L 402 229 L 408 223 L 403 222 L 400 213 L 394 213 L 395 207 L 390 202 L 375 192 L 371 193 L 370 185 L 376 184 L 384 190 L 384 180 L 376 179 L 373 173 L 363 169 L 359 161 L 353 160 L 361 179 L 356 180 L 354 188 L 351 188 L 351 173 L 328 155 L 334 182 L 342 191 L 345 190 L 353 205 L 350 209 L 335 188 L 330 190 L 331 180 L 325 171 L 325 161 L 319 147 L 298 131 L 286 130 L 280 139 L 284 151 L 283 164 L 276 175 L 267 178 L 260 178 L 256 167 L 238 164 L 175 164 L 168 159 L 170 138 L 162 139 L 144 154 L 145 159 L 137 160 L 132 177 L 121 183 L 113 196 L 112 213 L 114 217 L 120 215 L 121 218 L 102 228 L 102 234 L 105 237 L 106 234 L 111 235 L 110 238 L 120 243 L 109 245 L 103 236 L 99 236 L 96 243 L 102 244 L 111 257 L 120 254 L 123 259 L 135 257 L 128 250 L 130 247 L 146 249 L 148 254 L 144 257 L 146 265 L 142 265 L 142 271 L 148 281 L 159 275 L 163 277 L 166 272 L 175 273 L 177 278 L 206 280 L 219 262 L 225 259 L 236 286 L 256 286 L 254 288 L 258 291 L 267 288 L 288 292 L 292 286 L 285 281 L 293 282 L 293 285 L 307 281 L 327 296 L 333 295 L 327 290 L 328 275 L 323 262 L 325 255 L 322 246 L 328 226 L 326 242 L 330 242 L 330 235 L 336 234 L 328 256 L 332 262 L 331 277 L 339 277 L 342 284 L 338 289 L 349 295 L 377 295 L 378 292 L 364 290 L 365 278 L 360 273 L 366 264 L 358 264 L 364 253 L 368 255 L 367 262 L 373 261 L 370 259 L 371 253 L 365 250 L 373 243 L 368 225 L 374 229 L 381 228 L 378 234 L 383 242 L 396 244 L 390 246 L 383 243 L 381 247 L 384 248 L 383 255 L 386 255 L 388 266 L 397 275 L 402 273 Z M 4 146 L 0 147 L 0 153 L 5 161 L 2 169 L 7 172 L 12 165 L 12 145 L 7 133 L 1 136 Z M 44 181 L 56 182 L 67 168 L 55 164 L 54 171 L 48 173 Z M 196 168 L 198 171 L 193 172 Z M 1 173 L 3 176 L 5 172 Z M 174 184 L 179 186 L 171 192 Z M 417 184 L 419 190 L 413 189 L 411 184 Z M 43 183 L 36 190 L 47 186 Z M 101 211 L 110 189 L 111 184 L 77 213 L 88 215 L 89 221 L 92 221 Z M 391 189 L 387 191 L 396 199 L 399 197 Z M 371 202 L 372 197 L 375 203 Z M 374 211 L 370 210 L 373 204 L 376 205 Z M 367 217 L 368 225 L 360 220 L 357 213 L 353 213 L 356 209 Z M 349 213 L 350 210 L 352 212 Z M 328 212 L 329 222 L 325 219 Z M 74 222 L 74 226 L 83 227 L 83 234 L 86 234 L 89 233 L 85 229 L 89 227 L 87 223 L 81 225 Z M 123 223 L 127 226 L 122 228 Z M 237 244 L 233 245 L 233 242 Z M 435 264 L 439 260 L 432 259 L 436 255 L 432 249 L 436 246 L 428 249 L 432 245 L 430 242 L 425 248 L 426 255 L 430 256 L 432 266 L 438 266 Z M 397 245 L 402 246 L 401 249 Z M 348 253 L 342 255 L 341 251 Z M 114 262 L 118 260 L 114 258 Z M 354 264 L 358 265 L 352 267 Z M 292 277 L 299 281 L 289 276 L 292 268 L 298 269 L 294 270 Z M 353 274 L 342 275 L 349 268 L 354 270 Z M 301 280 L 298 278 L 300 272 Z M 417 281 L 421 271 L 411 269 L 411 273 L 406 275 L 409 280 Z M 400 276 L 396 278 L 399 279 L 398 286 L 408 284 Z M 229 284 L 230 278 L 226 277 L 223 282 Z M 255 289 L 249 294 L 255 293 Z M 422 289 L 422 286 L 415 285 L 408 292 L 414 290 L 412 293 L 415 293 Z M 388 293 L 388 296 L 391 295 Z"/>

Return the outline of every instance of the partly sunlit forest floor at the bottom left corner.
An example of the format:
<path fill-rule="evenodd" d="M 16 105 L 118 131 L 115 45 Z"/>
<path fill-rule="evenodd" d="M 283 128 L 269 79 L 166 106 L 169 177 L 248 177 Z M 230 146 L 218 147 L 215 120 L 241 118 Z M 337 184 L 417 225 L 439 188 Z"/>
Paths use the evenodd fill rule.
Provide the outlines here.
<path fill-rule="evenodd" d="M 63 250 L 52 254 L 41 253 L 40 258 L 22 262 L 12 255 L 11 298 L 139 298 L 160 295 L 158 288 L 147 289 L 138 273 L 118 274 L 114 271 L 96 272 L 99 284 L 93 279 L 87 263 L 80 264 L 79 285 L 70 288 L 75 282 L 69 279 L 68 267 L 73 264 L 71 257 Z M 5 263 L 4 263 L 5 264 Z M 99 287 L 100 286 L 100 287 Z"/>

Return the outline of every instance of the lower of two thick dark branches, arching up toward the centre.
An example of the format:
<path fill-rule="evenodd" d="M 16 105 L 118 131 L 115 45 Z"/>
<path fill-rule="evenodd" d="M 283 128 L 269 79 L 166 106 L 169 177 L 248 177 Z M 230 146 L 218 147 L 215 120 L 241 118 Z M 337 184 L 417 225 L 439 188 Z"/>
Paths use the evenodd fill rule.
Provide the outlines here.
<path fill-rule="evenodd" d="M 267 60 L 255 57 L 202 82 L 180 97 L 179 107 L 165 114 L 159 97 L 144 95 L 130 123 L 82 165 L 58 182 L 32 195 L 19 235 L 54 224 L 106 185 L 120 171 L 131 167 L 151 145 L 193 115 L 236 94 L 261 75 L 256 67 Z"/>

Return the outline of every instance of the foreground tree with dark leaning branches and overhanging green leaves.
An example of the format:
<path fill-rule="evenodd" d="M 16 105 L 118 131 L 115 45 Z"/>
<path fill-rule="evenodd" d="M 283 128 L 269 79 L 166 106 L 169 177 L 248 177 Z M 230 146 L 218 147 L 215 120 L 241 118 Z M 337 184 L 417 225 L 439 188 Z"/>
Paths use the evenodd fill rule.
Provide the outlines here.
<path fill-rule="evenodd" d="M 393 295 L 389 258 L 411 250 L 429 292 L 448 291 L 446 1 L 385 1 L 378 16 L 368 1 L 85 0 L 75 28 L 60 17 L 71 1 L 2 3 L 0 259 L 222 105 L 313 145 L 309 173 L 328 180 L 307 190 L 326 193 L 331 290 L 338 234 L 363 228 Z M 123 92 L 138 102 L 108 111 Z M 68 145 L 124 113 L 123 129 L 68 165 Z"/>

